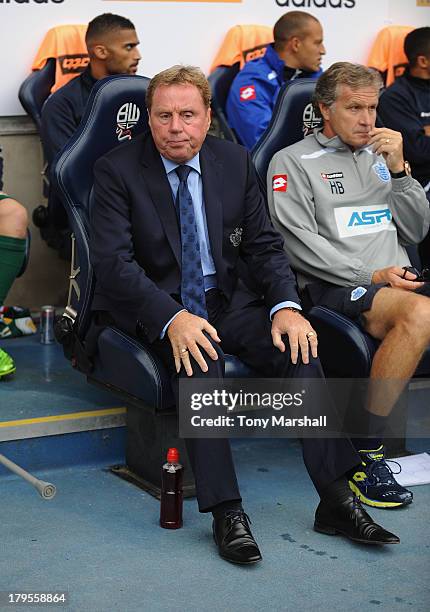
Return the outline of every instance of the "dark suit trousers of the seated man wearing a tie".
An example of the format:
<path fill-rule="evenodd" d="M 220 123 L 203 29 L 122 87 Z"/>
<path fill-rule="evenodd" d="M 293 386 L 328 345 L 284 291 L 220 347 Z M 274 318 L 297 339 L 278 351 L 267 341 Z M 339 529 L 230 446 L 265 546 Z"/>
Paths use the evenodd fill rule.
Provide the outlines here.
<path fill-rule="evenodd" d="M 216 290 L 208 292 L 206 300 L 209 321 L 218 331 L 221 348 L 213 342 L 219 359 L 206 359 L 209 368 L 206 373 L 191 358 L 194 377 L 223 378 L 223 353 L 236 355 L 246 365 L 261 373 L 262 377 L 324 377 L 318 359 L 310 357 L 308 365 L 301 360 L 296 365 L 291 362 L 288 337 L 284 338 L 284 353 L 273 346 L 269 313 L 260 300 L 251 299 L 245 306 L 241 303 L 240 307 L 233 300 L 227 306 Z M 179 375 L 176 374 L 167 338 L 156 341 L 152 346 L 172 373 L 176 404 L 179 405 L 178 379 L 186 374 L 183 368 Z M 200 511 L 207 512 L 223 501 L 240 500 L 229 440 L 194 438 L 185 442 L 196 481 Z M 360 463 L 356 450 L 350 440 L 345 438 L 303 439 L 303 458 L 318 493 Z"/>

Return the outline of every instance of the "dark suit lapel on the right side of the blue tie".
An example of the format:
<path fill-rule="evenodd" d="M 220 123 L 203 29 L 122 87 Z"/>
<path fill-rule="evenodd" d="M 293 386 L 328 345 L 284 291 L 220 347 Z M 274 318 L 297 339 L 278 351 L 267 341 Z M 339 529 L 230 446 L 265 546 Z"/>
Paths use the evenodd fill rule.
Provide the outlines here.
<path fill-rule="evenodd" d="M 200 169 L 203 181 L 203 198 L 209 232 L 209 244 L 215 268 L 223 268 L 222 261 L 222 201 L 220 186 L 223 180 L 223 166 L 206 143 L 200 151 Z"/>

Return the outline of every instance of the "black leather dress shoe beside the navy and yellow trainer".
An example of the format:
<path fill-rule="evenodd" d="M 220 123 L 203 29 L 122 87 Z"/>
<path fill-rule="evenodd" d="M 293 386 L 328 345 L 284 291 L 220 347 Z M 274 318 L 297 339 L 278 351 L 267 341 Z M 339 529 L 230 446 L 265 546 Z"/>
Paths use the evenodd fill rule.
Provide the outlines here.
<path fill-rule="evenodd" d="M 314 529 L 327 535 L 341 533 L 360 544 L 400 543 L 396 535 L 373 521 L 353 494 L 343 501 L 321 500 L 315 512 Z"/>

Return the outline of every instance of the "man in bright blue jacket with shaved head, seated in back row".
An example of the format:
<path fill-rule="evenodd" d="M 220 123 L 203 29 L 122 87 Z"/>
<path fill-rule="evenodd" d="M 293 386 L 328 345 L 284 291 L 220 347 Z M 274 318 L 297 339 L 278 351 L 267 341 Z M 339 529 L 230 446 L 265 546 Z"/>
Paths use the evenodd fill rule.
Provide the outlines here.
<path fill-rule="evenodd" d="M 316 17 L 303 11 L 285 13 L 275 23 L 273 35 L 275 42 L 262 58 L 245 64 L 227 98 L 228 122 L 247 149 L 269 125 L 281 86 L 321 73 L 325 47 Z"/>

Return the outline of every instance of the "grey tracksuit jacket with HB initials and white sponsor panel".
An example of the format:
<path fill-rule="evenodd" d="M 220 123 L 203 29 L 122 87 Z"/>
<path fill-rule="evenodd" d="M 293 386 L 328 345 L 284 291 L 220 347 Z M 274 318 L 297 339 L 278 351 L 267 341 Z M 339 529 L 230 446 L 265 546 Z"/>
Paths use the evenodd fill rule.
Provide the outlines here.
<path fill-rule="evenodd" d="M 352 152 L 321 128 L 279 151 L 267 181 L 272 221 L 300 288 L 316 280 L 370 285 L 375 270 L 410 265 L 404 245 L 429 228 L 416 180 L 392 179 L 383 156 L 370 147 Z"/>

